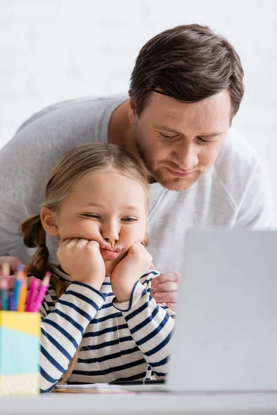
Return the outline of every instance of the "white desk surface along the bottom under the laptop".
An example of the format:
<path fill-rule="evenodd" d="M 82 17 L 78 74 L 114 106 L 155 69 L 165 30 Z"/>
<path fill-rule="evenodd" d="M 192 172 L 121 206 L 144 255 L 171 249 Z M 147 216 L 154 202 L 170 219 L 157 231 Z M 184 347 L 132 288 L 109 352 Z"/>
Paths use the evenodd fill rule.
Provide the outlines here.
<path fill-rule="evenodd" d="M 0 398 L 0 414 L 267 415 L 277 414 L 277 393 L 45 394 L 37 398 Z"/>

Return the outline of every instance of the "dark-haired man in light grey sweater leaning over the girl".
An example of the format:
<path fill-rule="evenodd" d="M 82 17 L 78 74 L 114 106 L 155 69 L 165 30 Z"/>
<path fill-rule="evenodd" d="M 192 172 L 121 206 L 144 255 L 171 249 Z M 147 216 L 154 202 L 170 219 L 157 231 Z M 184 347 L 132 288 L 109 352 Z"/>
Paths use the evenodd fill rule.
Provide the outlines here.
<path fill-rule="evenodd" d="M 180 270 L 188 227 L 274 225 L 258 155 L 231 129 L 242 77 L 226 39 L 197 24 L 179 26 L 143 46 L 129 99 L 84 98 L 35 114 L 0 152 L 0 255 L 28 259 L 17 227 L 39 210 L 46 177 L 68 149 L 92 141 L 123 145 L 148 174 L 149 248 L 155 267 L 168 272 L 152 294 L 174 303 L 177 275 L 170 271 Z M 48 246 L 54 256 L 53 241 Z"/>

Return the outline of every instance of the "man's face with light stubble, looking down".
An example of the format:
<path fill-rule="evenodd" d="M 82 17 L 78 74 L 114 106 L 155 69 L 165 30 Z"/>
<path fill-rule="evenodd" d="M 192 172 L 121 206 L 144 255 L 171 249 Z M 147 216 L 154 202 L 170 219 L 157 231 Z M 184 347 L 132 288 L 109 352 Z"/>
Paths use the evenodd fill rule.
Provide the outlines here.
<path fill-rule="evenodd" d="M 150 181 L 186 190 L 215 163 L 230 125 L 231 99 L 223 91 L 184 103 L 152 92 L 139 117 L 129 100 L 129 120 Z"/>

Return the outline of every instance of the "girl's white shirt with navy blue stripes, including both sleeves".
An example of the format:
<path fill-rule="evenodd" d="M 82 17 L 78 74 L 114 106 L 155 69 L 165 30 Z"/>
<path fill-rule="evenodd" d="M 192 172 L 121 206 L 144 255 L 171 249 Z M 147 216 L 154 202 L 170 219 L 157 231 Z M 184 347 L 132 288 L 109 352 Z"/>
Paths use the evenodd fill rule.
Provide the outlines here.
<path fill-rule="evenodd" d="M 68 383 L 166 376 L 174 312 L 150 295 L 157 271 L 148 270 L 134 285 L 129 301 L 118 303 L 109 277 L 97 291 L 72 282 L 55 266 L 51 270 L 71 284 L 60 299 L 49 286 L 39 310 L 42 392 L 50 391 L 60 380 L 78 347 L 78 362 Z"/>

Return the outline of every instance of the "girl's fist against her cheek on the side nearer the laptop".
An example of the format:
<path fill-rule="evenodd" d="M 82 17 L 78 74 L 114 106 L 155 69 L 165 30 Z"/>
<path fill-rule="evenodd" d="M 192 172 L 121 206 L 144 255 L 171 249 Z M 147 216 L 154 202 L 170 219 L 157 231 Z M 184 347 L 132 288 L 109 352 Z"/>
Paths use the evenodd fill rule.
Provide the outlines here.
<path fill-rule="evenodd" d="M 150 268 L 152 257 L 140 243 L 130 246 L 127 255 L 111 273 L 111 288 L 118 302 L 128 301 L 138 279 Z"/>

